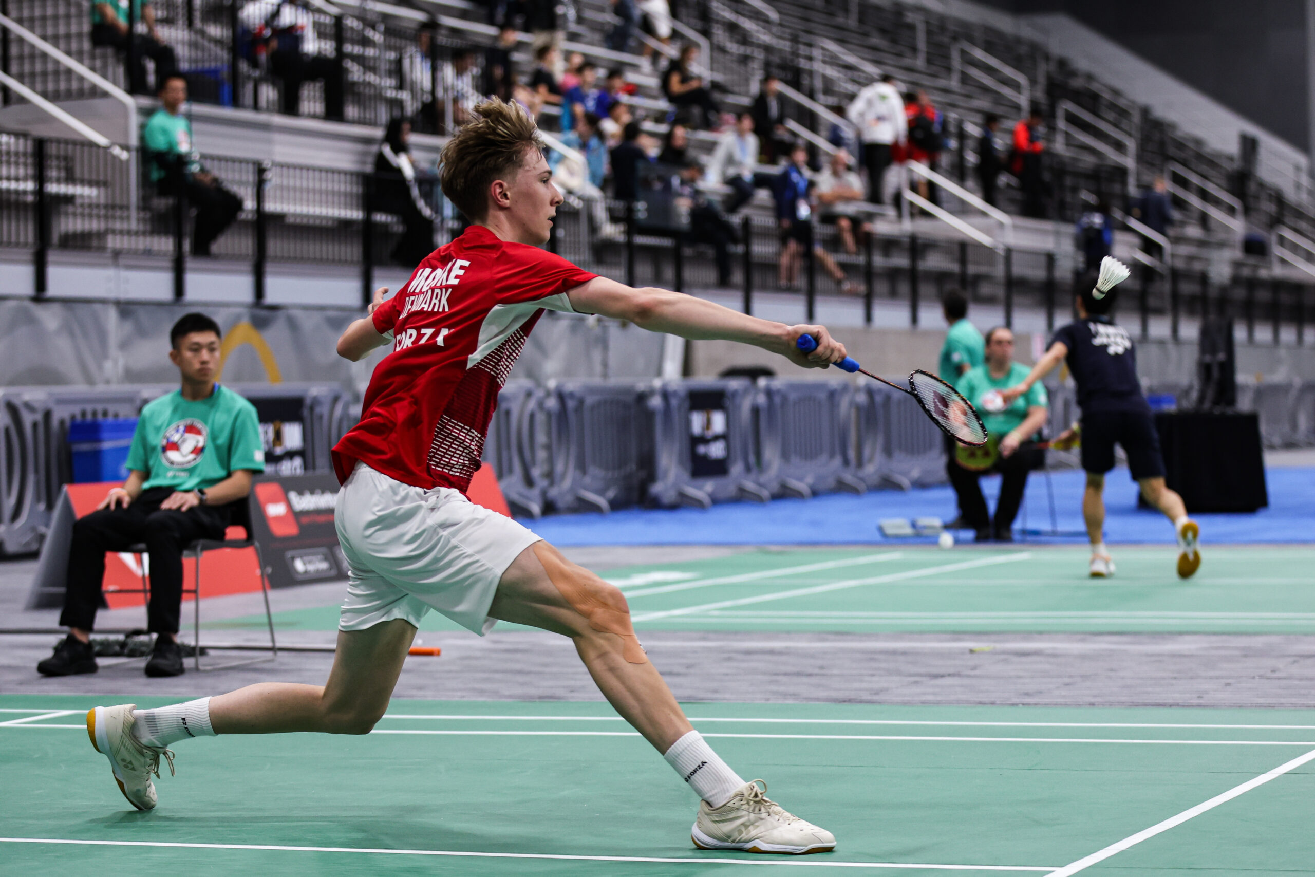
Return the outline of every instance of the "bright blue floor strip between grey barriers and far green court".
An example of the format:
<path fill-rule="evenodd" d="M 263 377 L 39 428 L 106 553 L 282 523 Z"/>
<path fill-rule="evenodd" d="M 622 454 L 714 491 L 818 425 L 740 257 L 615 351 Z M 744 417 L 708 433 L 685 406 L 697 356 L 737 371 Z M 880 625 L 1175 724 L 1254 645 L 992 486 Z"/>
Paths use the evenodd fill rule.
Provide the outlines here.
<path fill-rule="evenodd" d="M 1269 506 L 1253 514 L 1201 514 L 1206 543 L 1297 543 L 1315 534 L 1315 468 L 1276 468 L 1265 475 Z M 995 506 L 999 477 L 984 477 L 982 492 Z M 1085 473 L 1064 469 L 1034 473 L 1015 538 L 1085 543 Z M 1137 486 L 1126 468 L 1106 477 L 1106 542 L 1172 543 L 1173 527 L 1159 511 L 1137 509 Z M 1053 501 L 1052 501 L 1053 500 Z M 1052 517 L 1053 509 L 1053 517 Z M 711 509 L 623 509 L 611 514 L 563 514 L 529 521 L 540 536 L 560 546 L 638 544 L 909 544 L 931 538 L 886 539 L 882 518 L 955 517 L 955 492 L 947 485 L 911 490 L 835 493 L 769 504 L 729 502 Z M 970 539 L 965 533 L 961 536 Z"/>

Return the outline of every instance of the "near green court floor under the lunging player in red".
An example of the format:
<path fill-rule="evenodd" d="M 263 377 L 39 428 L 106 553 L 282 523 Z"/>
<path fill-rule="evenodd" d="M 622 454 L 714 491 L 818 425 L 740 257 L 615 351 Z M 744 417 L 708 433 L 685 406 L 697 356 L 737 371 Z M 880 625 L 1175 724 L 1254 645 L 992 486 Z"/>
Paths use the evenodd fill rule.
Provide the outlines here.
<path fill-rule="evenodd" d="M 1169 877 L 1315 861 L 1315 710 L 690 705 L 742 774 L 839 839 L 778 859 L 693 849 L 693 795 L 600 703 L 394 701 L 364 738 L 188 740 L 147 814 L 88 744 L 93 703 L 0 697 L 0 872 Z"/>

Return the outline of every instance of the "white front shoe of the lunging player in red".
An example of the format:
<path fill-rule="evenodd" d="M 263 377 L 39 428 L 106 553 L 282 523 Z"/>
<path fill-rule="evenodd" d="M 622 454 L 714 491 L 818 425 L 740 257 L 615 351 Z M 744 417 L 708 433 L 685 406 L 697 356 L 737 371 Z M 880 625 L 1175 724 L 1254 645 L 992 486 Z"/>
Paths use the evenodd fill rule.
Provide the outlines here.
<path fill-rule="evenodd" d="M 759 788 L 757 784 L 763 784 Z M 802 855 L 835 849 L 835 835 L 786 813 L 767 797 L 767 782 L 746 782 L 719 807 L 698 802 L 698 819 L 690 828 L 700 849 L 743 849 Z"/>

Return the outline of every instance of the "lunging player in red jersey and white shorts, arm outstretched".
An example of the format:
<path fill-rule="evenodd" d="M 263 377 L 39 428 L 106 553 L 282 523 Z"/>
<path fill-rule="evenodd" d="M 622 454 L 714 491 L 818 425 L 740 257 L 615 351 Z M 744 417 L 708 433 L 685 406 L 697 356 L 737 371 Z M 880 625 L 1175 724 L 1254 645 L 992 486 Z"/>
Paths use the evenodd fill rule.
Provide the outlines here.
<path fill-rule="evenodd" d="M 785 326 L 664 289 L 634 289 L 542 249 L 562 195 L 530 117 L 489 101 L 443 151 L 443 193 L 473 220 L 396 296 L 338 341 L 359 360 L 381 344 L 360 422 L 334 448 L 335 521 L 350 564 L 338 648 L 323 686 L 266 682 L 155 710 L 87 714 L 92 744 L 139 810 L 170 744 L 214 734 L 368 734 L 388 707 L 421 617 L 438 610 L 484 634 L 497 619 L 569 636 L 602 694 L 698 794 L 698 847 L 769 853 L 835 838 L 744 782 L 694 731 L 630 623 L 626 598 L 515 521 L 464 492 L 497 393 L 544 309 L 604 314 L 652 331 L 756 344 L 825 368 L 844 347 L 822 326 Z M 809 333 L 811 354 L 794 342 Z"/>

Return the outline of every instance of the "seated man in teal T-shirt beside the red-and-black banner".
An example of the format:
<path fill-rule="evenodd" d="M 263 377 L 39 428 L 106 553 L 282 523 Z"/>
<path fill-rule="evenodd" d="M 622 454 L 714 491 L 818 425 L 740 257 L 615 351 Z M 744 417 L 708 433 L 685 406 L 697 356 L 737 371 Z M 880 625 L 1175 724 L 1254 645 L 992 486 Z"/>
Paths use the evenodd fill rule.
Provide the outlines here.
<path fill-rule="evenodd" d="M 46 676 L 96 672 L 89 639 L 101 604 L 105 552 L 137 543 L 145 543 L 150 556 L 147 630 L 156 635 L 146 675 L 181 675 L 183 550 L 197 539 L 222 539 L 229 504 L 246 502 L 252 473 L 264 471 L 255 408 L 214 383 L 220 327 L 205 314 L 187 314 L 174 323 L 170 342 L 170 360 L 183 387 L 142 409 L 128 455 L 128 481 L 74 523 L 59 617 L 68 636 L 37 664 Z"/>

